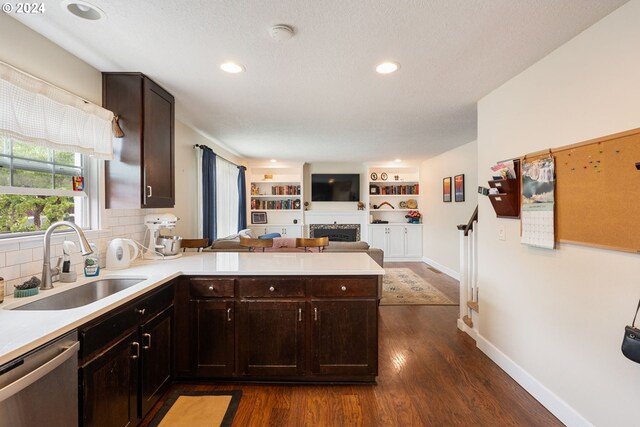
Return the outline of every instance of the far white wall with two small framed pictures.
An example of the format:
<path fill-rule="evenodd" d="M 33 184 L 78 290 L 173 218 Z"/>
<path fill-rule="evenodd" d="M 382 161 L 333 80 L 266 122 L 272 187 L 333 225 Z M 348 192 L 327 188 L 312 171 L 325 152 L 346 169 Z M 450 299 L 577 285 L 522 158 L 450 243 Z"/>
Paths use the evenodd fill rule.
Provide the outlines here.
<path fill-rule="evenodd" d="M 442 179 L 464 174 L 464 202 L 442 201 Z M 429 159 L 420 166 L 423 259 L 455 278 L 460 277 L 458 224 L 466 224 L 478 204 L 478 143 L 476 141 Z"/>

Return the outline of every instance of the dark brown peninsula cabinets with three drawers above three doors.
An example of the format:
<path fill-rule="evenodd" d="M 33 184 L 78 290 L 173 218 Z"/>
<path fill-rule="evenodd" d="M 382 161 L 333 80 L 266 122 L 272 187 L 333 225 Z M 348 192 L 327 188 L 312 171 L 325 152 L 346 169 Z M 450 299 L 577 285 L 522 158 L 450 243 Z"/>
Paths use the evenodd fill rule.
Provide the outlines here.
<path fill-rule="evenodd" d="M 374 382 L 378 297 L 377 276 L 185 277 L 176 376 Z"/>

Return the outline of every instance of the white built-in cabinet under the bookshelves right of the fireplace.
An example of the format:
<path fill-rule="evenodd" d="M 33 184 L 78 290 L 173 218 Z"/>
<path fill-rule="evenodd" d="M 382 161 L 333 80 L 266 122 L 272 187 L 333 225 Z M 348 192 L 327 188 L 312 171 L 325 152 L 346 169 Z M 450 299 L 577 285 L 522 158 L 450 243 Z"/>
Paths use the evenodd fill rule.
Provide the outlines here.
<path fill-rule="evenodd" d="M 422 257 L 422 225 L 371 224 L 369 245 L 382 249 L 385 261 L 419 260 Z"/>

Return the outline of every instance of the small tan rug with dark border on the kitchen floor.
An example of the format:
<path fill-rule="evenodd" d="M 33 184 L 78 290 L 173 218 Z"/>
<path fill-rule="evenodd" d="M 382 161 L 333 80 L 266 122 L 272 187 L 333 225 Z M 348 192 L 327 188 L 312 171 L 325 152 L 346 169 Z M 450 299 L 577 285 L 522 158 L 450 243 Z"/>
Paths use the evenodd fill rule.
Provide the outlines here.
<path fill-rule="evenodd" d="M 171 392 L 149 426 L 230 427 L 242 390 Z"/>

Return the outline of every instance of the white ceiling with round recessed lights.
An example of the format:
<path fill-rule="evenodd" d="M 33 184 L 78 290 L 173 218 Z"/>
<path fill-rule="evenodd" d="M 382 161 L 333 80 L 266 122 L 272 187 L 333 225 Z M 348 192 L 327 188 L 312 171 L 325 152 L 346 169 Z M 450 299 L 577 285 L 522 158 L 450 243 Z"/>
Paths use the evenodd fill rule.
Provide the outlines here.
<path fill-rule="evenodd" d="M 425 159 L 476 138 L 476 102 L 627 0 L 59 0 L 13 15 L 102 71 L 140 71 L 178 117 L 250 158 Z M 275 42 L 268 29 L 296 35 Z M 246 72 L 229 75 L 234 60 Z M 379 75 L 384 60 L 401 69 Z"/>

